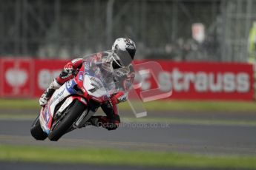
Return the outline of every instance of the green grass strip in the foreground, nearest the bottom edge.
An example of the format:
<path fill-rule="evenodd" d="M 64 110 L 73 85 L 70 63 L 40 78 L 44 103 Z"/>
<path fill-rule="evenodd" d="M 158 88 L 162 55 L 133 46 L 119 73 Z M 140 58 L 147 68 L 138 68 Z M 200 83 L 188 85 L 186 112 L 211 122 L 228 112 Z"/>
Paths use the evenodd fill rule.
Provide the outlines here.
<path fill-rule="evenodd" d="M 0 160 L 47 163 L 256 169 L 256 157 L 178 154 L 118 149 L 64 149 L 40 146 L 0 146 Z"/>

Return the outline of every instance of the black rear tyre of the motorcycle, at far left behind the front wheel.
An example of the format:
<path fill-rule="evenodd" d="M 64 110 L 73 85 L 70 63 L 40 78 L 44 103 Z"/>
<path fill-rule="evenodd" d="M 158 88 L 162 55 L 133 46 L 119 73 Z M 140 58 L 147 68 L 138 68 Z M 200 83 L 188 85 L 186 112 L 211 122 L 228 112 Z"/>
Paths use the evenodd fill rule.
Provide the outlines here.
<path fill-rule="evenodd" d="M 40 115 L 37 116 L 36 120 L 34 120 L 31 128 L 30 128 L 30 133 L 31 135 L 36 139 L 36 140 L 45 140 L 47 137 L 47 133 L 45 133 L 42 130 L 42 127 L 40 125 L 40 120 L 39 120 Z"/>

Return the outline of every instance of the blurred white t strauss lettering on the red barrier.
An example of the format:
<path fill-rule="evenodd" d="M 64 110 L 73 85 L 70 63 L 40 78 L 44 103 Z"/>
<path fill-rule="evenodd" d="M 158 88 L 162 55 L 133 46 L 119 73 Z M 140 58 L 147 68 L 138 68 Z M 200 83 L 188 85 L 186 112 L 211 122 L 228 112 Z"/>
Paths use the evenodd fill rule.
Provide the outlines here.
<path fill-rule="evenodd" d="M 148 81 L 151 75 L 142 78 L 142 90 L 151 89 L 152 83 Z M 162 91 L 173 89 L 176 92 L 238 92 L 246 93 L 250 90 L 250 76 L 246 72 L 183 72 L 174 67 L 172 72 L 160 72 L 158 83 Z"/>

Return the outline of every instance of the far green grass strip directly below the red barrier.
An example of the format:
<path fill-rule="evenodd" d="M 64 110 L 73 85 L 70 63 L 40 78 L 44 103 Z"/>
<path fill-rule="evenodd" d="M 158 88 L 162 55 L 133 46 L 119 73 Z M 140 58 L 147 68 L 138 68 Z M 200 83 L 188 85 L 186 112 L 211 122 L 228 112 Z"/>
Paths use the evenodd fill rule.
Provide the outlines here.
<path fill-rule="evenodd" d="M 148 111 L 256 112 L 256 103 L 246 101 L 151 101 L 144 106 Z M 0 99 L 0 109 L 39 108 L 35 99 Z M 131 110 L 128 102 L 120 103 L 119 109 Z"/>

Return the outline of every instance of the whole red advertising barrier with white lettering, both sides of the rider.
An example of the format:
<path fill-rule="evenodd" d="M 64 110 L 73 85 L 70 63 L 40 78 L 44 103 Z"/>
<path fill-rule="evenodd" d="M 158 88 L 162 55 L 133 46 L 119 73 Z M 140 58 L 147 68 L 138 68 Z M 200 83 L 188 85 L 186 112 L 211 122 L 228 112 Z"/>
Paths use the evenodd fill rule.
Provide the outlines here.
<path fill-rule="evenodd" d="M 134 67 L 145 62 L 148 61 L 134 61 Z M 137 86 L 134 85 L 134 89 L 139 96 L 142 92 L 159 86 L 162 92 L 172 89 L 173 94 L 167 99 L 253 100 L 255 89 L 251 64 L 168 60 L 154 62 L 163 67 L 155 75 L 151 74 L 151 67 L 141 66 L 136 69 L 134 81 L 137 81 Z M 38 98 L 53 78 L 59 76 L 68 61 L 0 58 L 0 63 L 1 97 Z M 89 75 L 94 75 L 97 71 L 99 70 L 91 69 Z M 122 72 L 119 74 L 122 75 Z M 99 82 L 92 83 L 98 86 Z M 71 84 L 67 85 L 69 86 Z"/>

